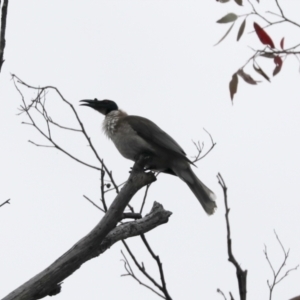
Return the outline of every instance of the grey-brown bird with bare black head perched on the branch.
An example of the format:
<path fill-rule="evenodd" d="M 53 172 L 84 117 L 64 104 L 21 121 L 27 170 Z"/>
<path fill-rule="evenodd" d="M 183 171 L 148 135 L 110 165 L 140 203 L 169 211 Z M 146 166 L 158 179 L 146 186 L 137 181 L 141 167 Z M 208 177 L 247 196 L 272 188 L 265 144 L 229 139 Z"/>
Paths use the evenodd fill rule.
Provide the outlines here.
<path fill-rule="evenodd" d="M 81 100 L 105 116 L 102 128 L 118 151 L 134 162 L 147 157 L 145 169 L 178 176 L 184 181 L 201 203 L 208 215 L 216 209 L 215 194 L 198 179 L 190 161 L 178 143 L 152 121 L 128 115 L 108 99 Z"/>

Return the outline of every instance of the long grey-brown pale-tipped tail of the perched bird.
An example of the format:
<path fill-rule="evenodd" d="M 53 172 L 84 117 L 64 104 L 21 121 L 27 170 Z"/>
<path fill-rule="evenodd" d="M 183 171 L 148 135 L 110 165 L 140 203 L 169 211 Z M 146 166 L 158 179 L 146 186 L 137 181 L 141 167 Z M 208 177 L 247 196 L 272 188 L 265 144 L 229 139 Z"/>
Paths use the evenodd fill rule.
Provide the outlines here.
<path fill-rule="evenodd" d="M 212 215 L 217 208 L 216 202 L 214 201 L 216 199 L 215 194 L 200 181 L 190 167 L 186 169 L 175 169 L 174 172 L 188 185 L 206 213 Z"/>

